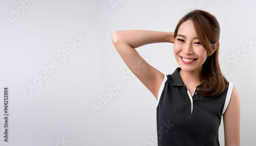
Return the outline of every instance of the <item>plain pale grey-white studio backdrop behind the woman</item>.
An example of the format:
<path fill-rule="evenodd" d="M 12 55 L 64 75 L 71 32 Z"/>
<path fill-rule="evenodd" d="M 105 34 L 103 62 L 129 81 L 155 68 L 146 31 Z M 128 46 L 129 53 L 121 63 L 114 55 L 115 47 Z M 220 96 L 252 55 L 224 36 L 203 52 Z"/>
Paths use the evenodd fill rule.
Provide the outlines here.
<path fill-rule="evenodd" d="M 174 31 L 192 9 L 219 20 L 220 64 L 240 92 L 241 145 L 254 145 L 255 8 L 255 1 L 0 1 L 0 145 L 157 145 L 157 102 L 129 72 L 111 34 Z M 178 67 L 173 44 L 137 50 L 164 74 Z M 3 137 L 6 86 L 9 142 Z M 104 96 L 112 99 L 102 103 Z M 223 145 L 223 126 L 219 139 Z"/>

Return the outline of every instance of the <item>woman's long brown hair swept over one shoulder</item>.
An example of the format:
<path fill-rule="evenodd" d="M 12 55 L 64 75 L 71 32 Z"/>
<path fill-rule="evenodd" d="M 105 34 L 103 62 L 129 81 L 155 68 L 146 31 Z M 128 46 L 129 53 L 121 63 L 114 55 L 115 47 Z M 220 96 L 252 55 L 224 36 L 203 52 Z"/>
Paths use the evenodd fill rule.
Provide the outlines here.
<path fill-rule="evenodd" d="M 214 15 L 206 11 L 191 11 L 178 22 L 174 32 L 175 38 L 181 23 L 188 19 L 193 21 L 197 37 L 207 52 L 207 59 L 202 69 L 201 84 L 197 87 L 198 93 L 208 98 L 218 97 L 228 84 L 219 65 L 219 22 Z M 212 54 L 214 48 L 217 48 L 217 50 Z"/>

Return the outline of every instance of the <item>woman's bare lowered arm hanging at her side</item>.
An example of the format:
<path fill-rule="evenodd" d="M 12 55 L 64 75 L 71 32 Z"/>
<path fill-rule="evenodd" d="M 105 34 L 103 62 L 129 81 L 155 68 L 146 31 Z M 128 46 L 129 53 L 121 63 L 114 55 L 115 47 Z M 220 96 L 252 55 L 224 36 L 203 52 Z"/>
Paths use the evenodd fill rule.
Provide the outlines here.
<path fill-rule="evenodd" d="M 223 115 L 225 146 L 240 145 L 240 100 L 234 86 L 228 107 Z"/>

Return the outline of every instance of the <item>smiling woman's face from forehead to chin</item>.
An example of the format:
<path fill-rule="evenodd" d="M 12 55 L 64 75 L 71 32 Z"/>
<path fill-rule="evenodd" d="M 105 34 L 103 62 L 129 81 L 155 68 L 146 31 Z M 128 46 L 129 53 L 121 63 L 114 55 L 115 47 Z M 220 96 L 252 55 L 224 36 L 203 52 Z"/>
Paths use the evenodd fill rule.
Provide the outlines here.
<path fill-rule="evenodd" d="M 193 21 L 186 20 L 180 25 L 174 42 L 174 55 L 183 71 L 201 72 L 207 52 L 197 38 Z"/>

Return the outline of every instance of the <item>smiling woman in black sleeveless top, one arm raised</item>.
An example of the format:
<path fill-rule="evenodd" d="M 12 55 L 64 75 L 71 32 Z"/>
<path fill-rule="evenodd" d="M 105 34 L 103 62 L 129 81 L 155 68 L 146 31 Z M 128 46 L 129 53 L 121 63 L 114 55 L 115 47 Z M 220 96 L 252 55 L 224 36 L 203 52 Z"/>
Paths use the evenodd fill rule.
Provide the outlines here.
<path fill-rule="evenodd" d="M 218 131 L 222 115 L 225 145 L 240 145 L 239 94 L 221 73 L 219 38 L 216 17 L 202 10 L 182 17 L 175 32 L 113 33 L 113 44 L 125 64 L 158 100 L 159 146 L 220 145 Z M 174 43 L 174 55 L 180 67 L 172 75 L 164 76 L 134 49 L 158 42 Z"/>

